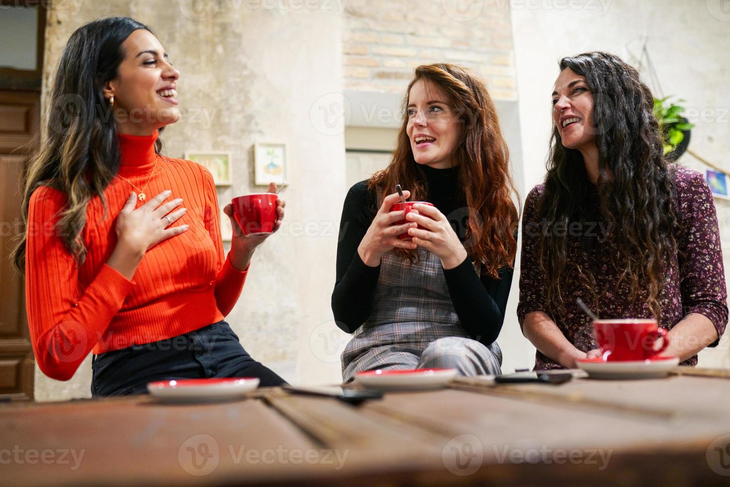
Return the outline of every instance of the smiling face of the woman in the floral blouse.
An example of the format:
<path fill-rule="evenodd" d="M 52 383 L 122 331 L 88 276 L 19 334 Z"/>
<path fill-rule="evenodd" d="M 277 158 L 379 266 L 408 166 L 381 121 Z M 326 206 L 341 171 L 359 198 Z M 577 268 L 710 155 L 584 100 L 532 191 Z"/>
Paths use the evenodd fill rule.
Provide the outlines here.
<path fill-rule="evenodd" d="M 585 76 L 570 68 L 560 72 L 553 91 L 553 123 L 564 147 L 585 150 L 596 145 L 593 126 L 593 93 Z"/>

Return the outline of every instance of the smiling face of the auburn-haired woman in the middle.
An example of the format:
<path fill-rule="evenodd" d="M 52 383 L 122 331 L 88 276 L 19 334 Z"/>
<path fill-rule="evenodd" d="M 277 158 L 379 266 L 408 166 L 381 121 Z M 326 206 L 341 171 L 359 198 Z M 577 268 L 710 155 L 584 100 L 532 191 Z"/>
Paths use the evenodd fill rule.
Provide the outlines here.
<path fill-rule="evenodd" d="M 408 93 L 407 134 L 413 158 L 434 169 L 456 165 L 453 154 L 461 137 L 461 123 L 448 96 L 428 80 L 416 81 Z"/>

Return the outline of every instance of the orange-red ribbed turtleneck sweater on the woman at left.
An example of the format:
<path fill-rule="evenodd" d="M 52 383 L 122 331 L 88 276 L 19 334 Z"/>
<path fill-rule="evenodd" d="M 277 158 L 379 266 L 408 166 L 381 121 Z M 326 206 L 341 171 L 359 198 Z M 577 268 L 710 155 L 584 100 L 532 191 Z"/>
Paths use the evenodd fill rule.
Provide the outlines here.
<path fill-rule="evenodd" d="M 80 267 L 55 230 L 66 194 L 42 186 L 31 195 L 26 307 L 36 360 L 49 377 L 70 379 L 91 350 L 164 340 L 220 321 L 241 294 L 246 271 L 223 254 L 212 175 L 194 162 L 155 154 L 157 136 L 120 134 L 118 174 L 138 188 L 152 175 L 142 188 L 147 201 L 172 190 L 166 201 L 182 198 L 188 209 L 173 226 L 190 229 L 147 250 L 134 280 L 106 264 L 117 243 L 117 215 L 129 193 L 138 192 L 130 183 L 112 180 L 104 191 L 106 215 L 99 197 L 88 204 L 82 232 L 88 253 Z"/>

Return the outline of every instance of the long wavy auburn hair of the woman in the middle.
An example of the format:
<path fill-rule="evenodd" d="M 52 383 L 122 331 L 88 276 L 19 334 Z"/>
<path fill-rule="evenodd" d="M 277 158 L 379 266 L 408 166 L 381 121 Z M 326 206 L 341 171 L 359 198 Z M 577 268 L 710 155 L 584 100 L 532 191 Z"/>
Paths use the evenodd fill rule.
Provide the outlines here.
<path fill-rule="evenodd" d="M 385 194 L 396 191 L 396 184 L 411 192 L 413 201 L 426 199 L 426 175 L 416 163 L 408 137 L 408 98 L 418 80 L 429 80 L 449 97 L 454 112 L 464 123 L 456 147 L 459 188 L 469 208 L 466 239 L 472 261 L 483 264 L 492 277 L 499 276 L 503 266 L 514 266 L 517 240 L 518 210 L 512 201 L 517 190 L 510 175 L 510 151 L 499 129 L 496 108 L 487 88 L 479 78 L 453 64 L 418 66 L 403 99 L 403 123 L 398 132 L 391 163 L 374 174 L 368 183 L 372 190 Z M 410 261 L 418 257 L 415 250 L 398 249 Z"/>

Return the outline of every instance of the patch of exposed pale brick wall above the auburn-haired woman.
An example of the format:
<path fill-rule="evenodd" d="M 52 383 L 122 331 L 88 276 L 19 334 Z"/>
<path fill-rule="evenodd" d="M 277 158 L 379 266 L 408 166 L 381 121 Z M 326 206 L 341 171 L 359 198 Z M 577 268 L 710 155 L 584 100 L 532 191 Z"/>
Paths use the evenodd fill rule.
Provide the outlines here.
<path fill-rule="evenodd" d="M 517 99 L 510 2 L 472 1 L 471 12 L 460 4 L 469 2 L 348 0 L 345 89 L 401 93 L 416 66 L 445 61 L 474 69 L 493 99 Z"/>

